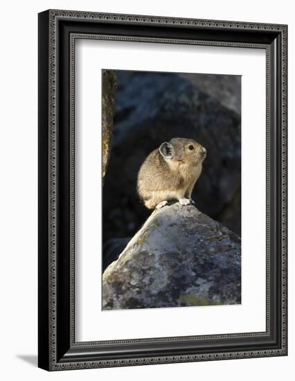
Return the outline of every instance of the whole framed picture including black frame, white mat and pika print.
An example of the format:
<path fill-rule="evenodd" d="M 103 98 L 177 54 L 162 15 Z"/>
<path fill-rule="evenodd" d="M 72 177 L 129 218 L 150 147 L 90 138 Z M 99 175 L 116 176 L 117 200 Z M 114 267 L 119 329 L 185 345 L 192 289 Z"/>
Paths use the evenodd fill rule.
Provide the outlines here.
<path fill-rule="evenodd" d="M 39 367 L 287 355 L 287 26 L 39 13 Z"/>

